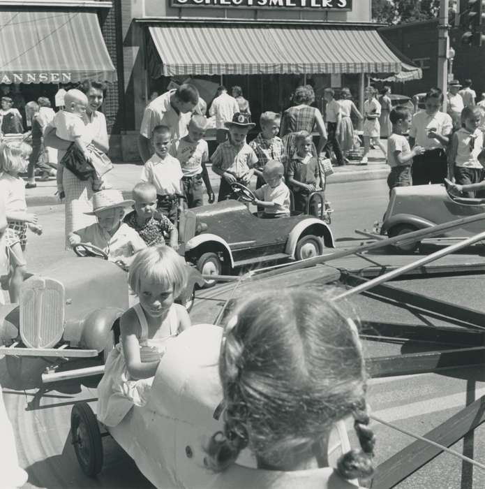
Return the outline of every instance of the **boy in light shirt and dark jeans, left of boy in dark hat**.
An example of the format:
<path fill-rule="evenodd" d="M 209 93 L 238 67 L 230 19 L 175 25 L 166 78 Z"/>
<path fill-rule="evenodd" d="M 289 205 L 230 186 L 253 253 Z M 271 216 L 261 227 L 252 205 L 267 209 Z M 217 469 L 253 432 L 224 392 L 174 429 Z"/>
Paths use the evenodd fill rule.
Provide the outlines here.
<path fill-rule="evenodd" d="M 214 192 L 205 166 L 209 161 L 209 147 L 207 141 L 202 139 L 206 128 L 206 117 L 193 115 L 188 123 L 186 136 L 177 140 L 170 147 L 170 154 L 179 160 L 182 173 L 184 173 L 182 184 L 189 208 L 204 205 L 202 180 L 207 189 L 209 204 L 214 202 Z"/>

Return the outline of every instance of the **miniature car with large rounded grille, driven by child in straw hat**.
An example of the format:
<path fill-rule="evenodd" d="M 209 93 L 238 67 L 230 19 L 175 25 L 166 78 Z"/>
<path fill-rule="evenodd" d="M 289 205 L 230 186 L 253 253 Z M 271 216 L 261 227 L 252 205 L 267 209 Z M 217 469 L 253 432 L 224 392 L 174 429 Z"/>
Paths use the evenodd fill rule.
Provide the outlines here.
<path fill-rule="evenodd" d="M 0 307 L 0 355 L 6 355 L 13 379 L 20 379 L 24 356 L 60 360 L 102 355 L 105 360 L 117 340 L 117 319 L 133 302 L 126 272 L 112 261 L 94 258 L 107 256 L 92 245 L 80 243 L 75 252 L 86 257 L 64 258 L 32 275 L 22 284 L 20 304 Z M 204 281 L 190 267 L 188 285 L 177 298 L 189 310 L 195 284 Z"/>

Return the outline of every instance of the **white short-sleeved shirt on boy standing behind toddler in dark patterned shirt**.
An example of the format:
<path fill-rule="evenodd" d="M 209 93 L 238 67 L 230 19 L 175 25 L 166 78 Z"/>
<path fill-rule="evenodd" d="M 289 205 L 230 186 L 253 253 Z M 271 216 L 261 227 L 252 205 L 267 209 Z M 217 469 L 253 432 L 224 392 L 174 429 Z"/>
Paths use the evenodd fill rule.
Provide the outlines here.
<path fill-rule="evenodd" d="M 154 154 L 144 164 L 140 180 L 149 182 L 156 188 L 156 193 L 161 196 L 181 195 L 180 180 L 184 176 L 180 163 L 177 158 L 167 154 L 161 159 L 158 154 Z"/>

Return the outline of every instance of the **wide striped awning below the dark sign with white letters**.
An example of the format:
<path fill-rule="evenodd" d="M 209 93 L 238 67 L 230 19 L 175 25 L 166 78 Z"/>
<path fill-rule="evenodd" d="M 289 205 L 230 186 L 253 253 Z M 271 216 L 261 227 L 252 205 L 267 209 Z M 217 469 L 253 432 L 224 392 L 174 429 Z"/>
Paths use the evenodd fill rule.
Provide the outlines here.
<path fill-rule="evenodd" d="M 401 60 L 375 29 L 162 24 L 149 27 L 151 75 L 397 73 Z"/>

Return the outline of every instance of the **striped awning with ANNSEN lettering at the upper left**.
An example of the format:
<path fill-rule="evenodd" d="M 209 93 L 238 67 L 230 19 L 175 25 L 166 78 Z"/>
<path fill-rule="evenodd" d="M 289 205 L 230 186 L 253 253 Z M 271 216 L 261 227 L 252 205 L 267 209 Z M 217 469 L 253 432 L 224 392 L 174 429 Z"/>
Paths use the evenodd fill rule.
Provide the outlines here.
<path fill-rule="evenodd" d="M 96 13 L 0 11 L 0 83 L 114 82 Z"/>

